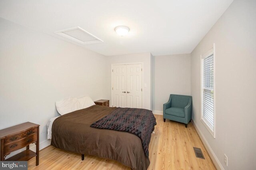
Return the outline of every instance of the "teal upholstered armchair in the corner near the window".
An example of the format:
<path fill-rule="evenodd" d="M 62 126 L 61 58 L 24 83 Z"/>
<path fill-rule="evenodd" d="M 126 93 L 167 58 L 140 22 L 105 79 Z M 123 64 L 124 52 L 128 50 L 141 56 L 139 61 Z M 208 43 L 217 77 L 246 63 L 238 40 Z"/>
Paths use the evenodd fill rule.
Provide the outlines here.
<path fill-rule="evenodd" d="M 166 119 L 185 123 L 187 127 L 192 117 L 192 96 L 170 95 L 167 103 L 164 104 L 164 122 Z"/>

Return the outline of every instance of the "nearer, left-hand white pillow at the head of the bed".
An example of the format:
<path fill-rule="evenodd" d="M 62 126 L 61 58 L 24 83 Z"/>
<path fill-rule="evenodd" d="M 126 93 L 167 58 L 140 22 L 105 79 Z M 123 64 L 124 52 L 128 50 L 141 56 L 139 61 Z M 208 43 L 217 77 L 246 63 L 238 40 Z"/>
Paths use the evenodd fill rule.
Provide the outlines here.
<path fill-rule="evenodd" d="M 60 115 L 65 115 L 67 113 L 82 109 L 78 99 L 75 97 L 70 97 L 62 101 L 56 101 L 55 105 Z"/>

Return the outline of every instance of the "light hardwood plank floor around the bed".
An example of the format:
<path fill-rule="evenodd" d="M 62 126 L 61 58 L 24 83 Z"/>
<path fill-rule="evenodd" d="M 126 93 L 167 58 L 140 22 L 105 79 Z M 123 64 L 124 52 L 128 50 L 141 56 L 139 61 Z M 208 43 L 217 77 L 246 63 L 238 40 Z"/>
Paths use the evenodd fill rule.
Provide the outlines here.
<path fill-rule="evenodd" d="M 163 121 L 161 115 L 155 115 L 157 125 L 151 136 L 149 154 L 150 166 L 148 170 L 215 170 L 192 123 L 185 128 L 184 124 L 174 121 Z M 205 159 L 196 158 L 193 147 L 201 148 Z M 28 161 L 28 169 L 39 170 L 130 170 L 114 160 L 98 158 L 96 156 L 66 152 L 53 146 L 40 151 L 39 166 L 36 158 Z"/>

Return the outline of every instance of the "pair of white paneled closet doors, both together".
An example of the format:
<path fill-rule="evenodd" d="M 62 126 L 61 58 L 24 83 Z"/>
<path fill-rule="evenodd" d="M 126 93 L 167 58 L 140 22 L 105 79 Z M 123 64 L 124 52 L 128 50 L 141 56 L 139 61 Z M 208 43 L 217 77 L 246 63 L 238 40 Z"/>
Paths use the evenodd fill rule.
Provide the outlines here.
<path fill-rule="evenodd" d="M 112 107 L 142 108 L 142 64 L 112 65 Z"/>

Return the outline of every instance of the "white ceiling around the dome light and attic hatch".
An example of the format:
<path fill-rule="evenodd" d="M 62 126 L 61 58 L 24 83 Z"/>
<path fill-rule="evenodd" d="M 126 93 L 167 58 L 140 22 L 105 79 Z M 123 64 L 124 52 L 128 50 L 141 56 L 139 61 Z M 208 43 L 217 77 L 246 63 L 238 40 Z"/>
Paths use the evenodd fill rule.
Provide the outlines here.
<path fill-rule="evenodd" d="M 0 17 L 44 32 L 81 27 L 104 42 L 80 45 L 103 55 L 190 53 L 233 0 L 1 0 Z M 116 26 L 128 26 L 120 37 Z"/>

